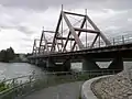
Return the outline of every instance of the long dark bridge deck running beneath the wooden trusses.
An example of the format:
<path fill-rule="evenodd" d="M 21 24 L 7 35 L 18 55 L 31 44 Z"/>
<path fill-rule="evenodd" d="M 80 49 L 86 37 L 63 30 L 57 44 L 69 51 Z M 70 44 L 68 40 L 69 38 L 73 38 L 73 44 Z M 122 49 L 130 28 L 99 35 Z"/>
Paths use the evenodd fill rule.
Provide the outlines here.
<path fill-rule="evenodd" d="M 132 43 L 122 44 L 122 45 L 111 45 L 96 48 L 81 50 L 76 52 L 66 52 L 66 53 L 51 53 L 45 55 L 34 55 L 29 58 L 48 58 L 48 57 L 62 57 L 62 56 L 76 56 L 76 55 L 90 55 L 90 54 L 102 54 L 102 53 L 112 53 L 112 52 L 127 52 L 132 51 Z"/>

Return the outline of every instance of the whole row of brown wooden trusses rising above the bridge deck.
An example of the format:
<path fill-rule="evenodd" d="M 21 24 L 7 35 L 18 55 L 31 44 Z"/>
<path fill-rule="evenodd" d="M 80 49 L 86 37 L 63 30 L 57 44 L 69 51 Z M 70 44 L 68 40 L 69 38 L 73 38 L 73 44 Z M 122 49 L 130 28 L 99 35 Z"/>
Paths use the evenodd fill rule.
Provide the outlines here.
<path fill-rule="evenodd" d="M 81 18 L 82 20 L 79 26 L 73 25 L 72 21 L 67 15 Z M 68 32 L 66 36 L 63 36 L 63 33 L 64 33 L 63 22 L 65 22 L 66 26 L 68 28 Z M 87 23 L 90 24 L 89 29 L 85 28 L 85 24 Z M 62 32 L 59 31 L 61 29 L 62 29 Z M 87 34 L 88 33 L 96 34 L 89 47 L 84 46 L 84 43 L 80 40 L 80 34 L 82 32 Z M 52 42 L 45 37 L 45 33 L 53 33 L 54 37 Z M 37 40 L 34 40 L 33 53 L 35 54 L 36 53 L 45 54 L 51 52 L 65 53 L 68 51 L 67 50 L 68 42 L 72 42 L 70 50 L 68 52 L 76 51 L 76 47 L 79 51 L 86 50 L 86 48 L 94 48 L 95 43 L 97 42 L 97 40 L 100 40 L 100 38 L 103 41 L 106 45 L 111 44 L 110 41 L 103 35 L 103 33 L 99 30 L 99 28 L 91 21 L 91 19 L 87 14 L 78 14 L 73 12 L 61 11 L 55 32 L 43 30 L 38 47 L 36 46 Z"/>

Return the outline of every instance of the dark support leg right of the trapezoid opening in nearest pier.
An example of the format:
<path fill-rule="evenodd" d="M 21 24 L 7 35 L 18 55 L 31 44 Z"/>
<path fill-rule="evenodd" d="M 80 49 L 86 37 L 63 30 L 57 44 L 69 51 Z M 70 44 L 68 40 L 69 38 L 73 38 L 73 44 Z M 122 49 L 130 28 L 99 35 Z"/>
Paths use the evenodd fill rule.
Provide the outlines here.
<path fill-rule="evenodd" d="M 118 56 L 113 59 L 113 62 L 109 65 L 108 69 L 119 69 L 123 70 L 123 59 L 122 57 Z"/>

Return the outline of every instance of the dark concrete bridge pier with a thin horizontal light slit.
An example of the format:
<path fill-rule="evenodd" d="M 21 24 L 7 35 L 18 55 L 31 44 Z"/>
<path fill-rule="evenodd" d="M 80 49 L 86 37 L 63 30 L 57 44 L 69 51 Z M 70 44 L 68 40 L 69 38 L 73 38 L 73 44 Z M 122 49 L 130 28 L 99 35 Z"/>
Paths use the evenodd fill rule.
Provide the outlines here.
<path fill-rule="evenodd" d="M 59 61 L 56 62 L 52 58 L 46 61 L 47 70 L 54 72 L 69 72 L 70 70 L 70 61 Z"/>

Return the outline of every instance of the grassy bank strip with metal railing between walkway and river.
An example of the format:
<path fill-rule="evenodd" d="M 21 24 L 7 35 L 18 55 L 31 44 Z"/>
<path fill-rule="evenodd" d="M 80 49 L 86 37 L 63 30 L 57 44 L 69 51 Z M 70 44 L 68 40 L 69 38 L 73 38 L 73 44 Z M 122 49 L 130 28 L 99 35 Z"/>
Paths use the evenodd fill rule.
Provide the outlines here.
<path fill-rule="evenodd" d="M 24 96 L 63 82 L 72 82 L 79 80 L 88 80 L 92 77 L 102 75 L 113 75 L 121 70 L 105 69 L 105 70 L 89 70 L 89 72 L 56 72 L 45 73 L 41 75 L 29 75 L 13 79 L 3 80 L 0 82 L 0 99 L 20 99 Z"/>

